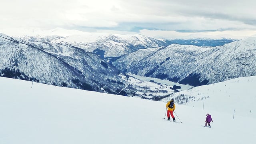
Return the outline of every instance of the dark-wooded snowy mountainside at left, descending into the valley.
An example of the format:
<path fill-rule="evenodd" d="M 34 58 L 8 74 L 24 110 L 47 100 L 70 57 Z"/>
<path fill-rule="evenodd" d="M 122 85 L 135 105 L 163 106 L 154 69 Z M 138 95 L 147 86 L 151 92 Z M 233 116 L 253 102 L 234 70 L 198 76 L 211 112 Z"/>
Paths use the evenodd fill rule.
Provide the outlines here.
<path fill-rule="evenodd" d="M 116 93 L 119 71 L 97 55 L 65 44 L 30 42 L 0 34 L 0 74 L 49 85 Z"/>

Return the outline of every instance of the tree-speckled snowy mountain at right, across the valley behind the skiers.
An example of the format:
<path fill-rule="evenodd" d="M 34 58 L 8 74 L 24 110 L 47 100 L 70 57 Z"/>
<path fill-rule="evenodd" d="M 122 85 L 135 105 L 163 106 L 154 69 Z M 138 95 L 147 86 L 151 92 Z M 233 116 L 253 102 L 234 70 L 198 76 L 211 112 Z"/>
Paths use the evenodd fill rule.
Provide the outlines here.
<path fill-rule="evenodd" d="M 256 37 L 218 47 L 172 44 L 140 49 L 113 63 L 136 75 L 192 86 L 256 75 Z"/>

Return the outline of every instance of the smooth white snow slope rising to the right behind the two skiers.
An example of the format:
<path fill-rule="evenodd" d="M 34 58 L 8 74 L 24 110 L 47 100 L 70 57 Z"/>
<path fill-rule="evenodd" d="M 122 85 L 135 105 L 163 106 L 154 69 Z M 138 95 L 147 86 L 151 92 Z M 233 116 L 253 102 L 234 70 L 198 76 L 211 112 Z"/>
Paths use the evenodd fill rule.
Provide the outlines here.
<path fill-rule="evenodd" d="M 174 93 L 162 101 L 184 97 L 184 105 L 190 107 L 222 111 L 230 116 L 235 110 L 235 114 L 256 118 L 255 83 L 256 76 L 239 77 Z"/>

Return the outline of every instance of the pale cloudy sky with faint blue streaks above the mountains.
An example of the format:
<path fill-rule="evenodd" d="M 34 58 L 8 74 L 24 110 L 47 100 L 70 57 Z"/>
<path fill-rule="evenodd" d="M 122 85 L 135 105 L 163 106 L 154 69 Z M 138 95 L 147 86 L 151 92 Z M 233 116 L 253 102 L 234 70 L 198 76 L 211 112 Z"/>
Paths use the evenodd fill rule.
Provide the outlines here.
<path fill-rule="evenodd" d="M 256 34 L 255 0 L 1 0 L 0 32 L 64 28 L 172 37 Z"/>

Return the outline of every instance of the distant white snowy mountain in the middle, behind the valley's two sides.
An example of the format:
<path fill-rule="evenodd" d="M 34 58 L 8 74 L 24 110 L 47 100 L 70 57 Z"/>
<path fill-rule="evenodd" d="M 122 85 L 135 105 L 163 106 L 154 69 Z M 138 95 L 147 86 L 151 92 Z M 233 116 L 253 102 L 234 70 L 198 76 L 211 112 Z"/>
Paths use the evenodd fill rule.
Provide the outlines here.
<path fill-rule="evenodd" d="M 72 45 L 92 52 L 101 58 L 120 57 L 138 49 L 159 47 L 169 45 L 164 39 L 154 39 L 139 34 L 118 35 L 118 34 L 90 34 L 72 35 L 66 37 L 57 36 L 22 36 L 22 39 L 29 41 L 48 41 L 49 43 Z"/>

